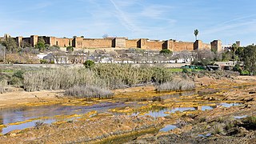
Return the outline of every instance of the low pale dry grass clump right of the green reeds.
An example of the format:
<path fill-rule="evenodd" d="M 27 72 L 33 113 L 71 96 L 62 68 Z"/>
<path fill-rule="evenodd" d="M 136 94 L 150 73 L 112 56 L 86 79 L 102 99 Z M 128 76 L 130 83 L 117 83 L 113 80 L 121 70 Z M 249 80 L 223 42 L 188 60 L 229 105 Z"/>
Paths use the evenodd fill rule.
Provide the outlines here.
<path fill-rule="evenodd" d="M 172 90 L 194 90 L 195 85 L 193 81 L 188 79 L 174 78 L 170 82 L 162 83 L 157 86 L 157 91 L 172 91 Z"/>

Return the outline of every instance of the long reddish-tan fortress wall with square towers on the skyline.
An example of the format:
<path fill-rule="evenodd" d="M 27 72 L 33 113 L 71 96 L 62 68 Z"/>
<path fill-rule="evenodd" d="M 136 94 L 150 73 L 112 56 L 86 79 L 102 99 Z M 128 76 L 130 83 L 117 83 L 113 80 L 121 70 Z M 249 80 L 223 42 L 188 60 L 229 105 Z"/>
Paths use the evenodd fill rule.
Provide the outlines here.
<path fill-rule="evenodd" d="M 4 38 L 10 37 L 9 34 L 5 34 Z M 4 38 L 0 38 L 4 39 Z M 90 48 L 141 48 L 143 50 L 162 50 L 169 49 L 171 51 L 182 51 L 182 50 L 222 50 L 222 41 L 214 40 L 210 44 L 203 43 L 200 40 L 195 42 L 180 42 L 176 40 L 150 40 L 147 38 L 128 39 L 128 38 L 55 38 L 47 36 L 31 35 L 30 38 L 16 37 L 15 41 L 18 46 L 22 45 L 22 42 L 27 42 L 31 46 L 35 46 L 38 43 L 38 38 L 43 38 L 46 44 L 50 46 L 73 46 L 78 49 L 90 49 Z"/>

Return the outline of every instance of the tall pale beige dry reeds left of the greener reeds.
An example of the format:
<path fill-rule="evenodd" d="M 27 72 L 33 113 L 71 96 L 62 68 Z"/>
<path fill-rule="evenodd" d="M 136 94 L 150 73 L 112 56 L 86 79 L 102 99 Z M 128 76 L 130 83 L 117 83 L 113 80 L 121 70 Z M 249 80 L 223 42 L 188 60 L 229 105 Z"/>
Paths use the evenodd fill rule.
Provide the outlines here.
<path fill-rule="evenodd" d="M 29 71 L 24 74 L 26 91 L 66 90 L 79 85 L 105 86 L 105 83 L 92 71 L 85 69 L 62 68 Z"/>

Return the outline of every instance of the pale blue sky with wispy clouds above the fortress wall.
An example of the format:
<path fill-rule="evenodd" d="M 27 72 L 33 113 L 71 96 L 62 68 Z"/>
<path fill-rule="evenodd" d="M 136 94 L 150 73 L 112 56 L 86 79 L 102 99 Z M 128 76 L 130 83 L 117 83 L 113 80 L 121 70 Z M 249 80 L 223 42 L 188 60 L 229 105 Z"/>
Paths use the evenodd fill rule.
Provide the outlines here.
<path fill-rule="evenodd" d="M 0 34 L 256 43 L 253 0 L 3 0 Z"/>

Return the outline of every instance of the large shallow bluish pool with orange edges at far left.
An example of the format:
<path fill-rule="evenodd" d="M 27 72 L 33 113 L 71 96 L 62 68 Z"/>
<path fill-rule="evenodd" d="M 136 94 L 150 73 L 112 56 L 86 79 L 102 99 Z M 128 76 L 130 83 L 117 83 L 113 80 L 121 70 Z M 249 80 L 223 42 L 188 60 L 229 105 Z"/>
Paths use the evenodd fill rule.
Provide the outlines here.
<path fill-rule="evenodd" d="M 6 134 L 11 130 L 22 130 L 28 127 L 33 127 L 35 126 L 35 122 L 38 122 L 38 121 L 50 124 L 52 122 L 62 120 L 63 117 L 66 115 L 86 114 L 92 110 L 97 110 L 98 113 L 108 113 L 107 110 L 115 107 L 133 106 L 133 105 L 134 103 L 125 104 L 123 102 L 118 102 L 118 103 L 103 102 L 103 103 L 96 104 L 94 106 L 53 105 L 53 106 L 26 107 L 26 108 L 17 109 L 17 110 L 2 110 L 0 111 L 0 125 L 6 126 L 5 128 L 2 129 L 2 134 Z M 66 118 L 65 120 L 68 121 L 70 119 L 74 119 L 74 118 L 68 118 L 68 119 Z M 24 122 L 24 123 L 15 124 L 15 122 Z M 12 123 L 14 125 L 12 125 Z"/>

